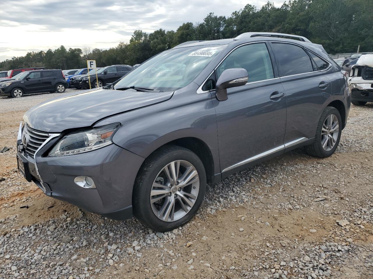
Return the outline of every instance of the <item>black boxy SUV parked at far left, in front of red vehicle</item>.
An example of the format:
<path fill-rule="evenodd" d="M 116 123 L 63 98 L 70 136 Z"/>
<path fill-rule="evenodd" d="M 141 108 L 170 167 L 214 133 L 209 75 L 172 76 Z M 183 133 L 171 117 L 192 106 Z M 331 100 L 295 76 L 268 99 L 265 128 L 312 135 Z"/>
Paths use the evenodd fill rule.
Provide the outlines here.
<path fill-rule="evenodd" d="M 62 70 L 35 70 L 23 72 L 13 80 L 0 83 L 0 95 L 22 97 L 28 93 L 63 93 L 68 83 Z"/>

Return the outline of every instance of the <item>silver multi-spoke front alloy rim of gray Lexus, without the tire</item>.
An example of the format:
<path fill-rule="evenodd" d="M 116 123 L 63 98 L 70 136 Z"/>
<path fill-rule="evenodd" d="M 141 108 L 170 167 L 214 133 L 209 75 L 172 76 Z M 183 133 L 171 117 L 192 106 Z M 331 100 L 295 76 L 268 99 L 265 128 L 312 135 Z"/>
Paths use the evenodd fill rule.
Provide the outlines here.
<path fill-rule="evenodd" d="M 195 167 L 187 161 L 173 161 L 154 180 L 150 192 L 151 208 L 162 221 L 179 220 L 192 209 L 199 190 Z"/>

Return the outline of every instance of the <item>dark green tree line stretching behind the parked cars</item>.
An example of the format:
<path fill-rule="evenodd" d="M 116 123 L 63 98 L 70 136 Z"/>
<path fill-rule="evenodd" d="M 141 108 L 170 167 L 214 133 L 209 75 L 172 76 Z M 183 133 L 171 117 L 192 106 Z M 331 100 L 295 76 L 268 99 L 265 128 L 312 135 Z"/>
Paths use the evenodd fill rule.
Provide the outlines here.
<path fill-rule="evenodd" d="M 234 38 L 244 32 L 278 32 L 305 36 L 328 53 L 373 51 L 372 0 L 291 0 L 281 7 L 247 4 L 231 16 L 209 13 L 203 22 L 183 23 L 176 31 L 136 30 L 128 43 L 110 49 L 69 48 L 28 52 L 0 62 L 0 70 L 22 67 L 73 69 L 96 60 L 97 67 L 134 65 L 186 41 Z"/>

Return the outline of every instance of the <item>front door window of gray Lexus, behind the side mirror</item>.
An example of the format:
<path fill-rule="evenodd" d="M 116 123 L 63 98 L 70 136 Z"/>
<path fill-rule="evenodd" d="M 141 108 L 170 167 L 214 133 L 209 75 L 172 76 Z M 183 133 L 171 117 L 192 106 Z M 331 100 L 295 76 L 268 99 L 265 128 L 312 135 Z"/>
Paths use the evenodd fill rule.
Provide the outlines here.
<path fill-rule="evenodd" d="M 235 49 L 216 70 L 219 79 L 224 70 L 244 68 L 248 82 L 273 78 L 273 68 L 266 44 L 250 44 Z"/>

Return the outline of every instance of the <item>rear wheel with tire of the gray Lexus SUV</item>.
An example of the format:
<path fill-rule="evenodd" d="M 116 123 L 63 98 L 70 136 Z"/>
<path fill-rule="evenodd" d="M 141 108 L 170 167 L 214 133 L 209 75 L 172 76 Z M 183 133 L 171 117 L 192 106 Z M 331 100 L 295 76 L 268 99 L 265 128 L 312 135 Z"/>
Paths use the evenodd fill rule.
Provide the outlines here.
<path fill-rule="evenodd" d="M 321 114 L 313 144 L 306 146 L 308 154 L 326 158 L 337 149 L 342 132 L 342 119 L 336 108 L 327 106 Z"/>

